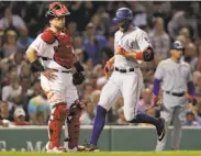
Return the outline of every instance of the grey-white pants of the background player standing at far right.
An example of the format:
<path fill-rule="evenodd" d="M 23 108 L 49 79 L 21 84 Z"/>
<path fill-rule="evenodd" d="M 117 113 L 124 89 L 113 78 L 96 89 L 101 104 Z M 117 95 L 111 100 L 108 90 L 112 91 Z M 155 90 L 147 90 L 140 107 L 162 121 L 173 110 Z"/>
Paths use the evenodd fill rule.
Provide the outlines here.
<path fill-rule="evenodd" d="M 164 92 L 164 105 L 160 112 L 160 116 L 166 121 L 166 132 L 172 121 L 171 133 L 171 149 L 179 149 L 180 138 L 182 133 L 182 124 L 186 119 L 187 99 L 186 97 L 175 97 Z M 171 101 L 172 100 L 172 101 Z M 176 105 L 177 103 L 177 105 Z M 156 151 L 164 151 L 166 148 L 168 133 L 166 133 L 164 140 L 157 141 Z"/>

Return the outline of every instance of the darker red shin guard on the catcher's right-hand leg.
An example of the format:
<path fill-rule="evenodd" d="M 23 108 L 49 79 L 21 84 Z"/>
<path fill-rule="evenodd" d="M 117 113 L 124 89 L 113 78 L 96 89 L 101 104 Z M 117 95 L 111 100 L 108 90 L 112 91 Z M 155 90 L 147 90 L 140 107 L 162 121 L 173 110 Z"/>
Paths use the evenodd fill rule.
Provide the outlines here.
<path fill-rule="evenodd" d="M 68 136 L 65 140 L 65 146 L 67 151 L 78 151 L 79 132 L 80 132 L 80 116 L 83 105 L 80 101 L 76 101 L 70 107 L 70 114 L 67 116 L 66 131 Z"/>

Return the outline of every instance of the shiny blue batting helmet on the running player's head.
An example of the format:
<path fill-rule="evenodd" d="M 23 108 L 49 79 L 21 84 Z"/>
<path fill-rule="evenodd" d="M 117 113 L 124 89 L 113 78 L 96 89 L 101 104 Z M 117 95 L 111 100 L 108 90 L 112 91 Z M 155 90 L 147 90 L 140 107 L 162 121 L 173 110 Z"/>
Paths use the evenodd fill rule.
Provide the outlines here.
<path fill-rule="evenodd" d="M 115 18 L 113 19 L 114 23 L 123 22 L 121 29 L 123 31 L 127 31 L 127 27 L 131 25 L 133 20 L 133 12 L 129 8 L 120 8 L 115 12 Z"/>

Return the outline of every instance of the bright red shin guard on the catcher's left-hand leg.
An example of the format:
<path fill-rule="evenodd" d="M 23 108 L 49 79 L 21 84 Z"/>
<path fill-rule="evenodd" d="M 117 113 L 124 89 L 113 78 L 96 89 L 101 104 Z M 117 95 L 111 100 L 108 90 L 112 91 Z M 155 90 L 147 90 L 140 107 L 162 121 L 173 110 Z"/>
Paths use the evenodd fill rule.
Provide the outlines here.
<path fill-rule="evenodd" d="M 66 102 L 57 103 L 52 109 L 52 114 L 48 122 L 48 149 L 58 147 L 60 142 L 60 133 L 64 121 L 67 116 L 67 104 Z"/>

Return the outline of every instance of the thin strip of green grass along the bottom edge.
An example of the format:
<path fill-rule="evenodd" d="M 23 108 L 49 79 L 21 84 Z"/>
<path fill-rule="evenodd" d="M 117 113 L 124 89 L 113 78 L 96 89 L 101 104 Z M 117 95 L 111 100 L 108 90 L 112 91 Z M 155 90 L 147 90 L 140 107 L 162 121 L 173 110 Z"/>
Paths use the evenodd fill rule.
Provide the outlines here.
<path fill-rule="evenodd" d="M 33 152 L 1 152 L 0 156 L 201 156 L 201 152 L 180 151 L 180 152 L 100 152 L 100 153 L 63 153 L 47 154 Z"/>

